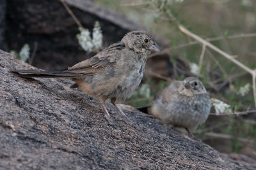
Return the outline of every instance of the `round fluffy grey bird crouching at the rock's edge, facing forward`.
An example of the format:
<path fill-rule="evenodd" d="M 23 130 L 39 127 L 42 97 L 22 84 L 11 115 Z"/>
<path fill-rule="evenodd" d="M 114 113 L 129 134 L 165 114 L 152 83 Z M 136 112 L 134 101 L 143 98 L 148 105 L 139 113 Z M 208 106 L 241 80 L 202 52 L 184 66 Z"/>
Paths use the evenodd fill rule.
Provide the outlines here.
<path fill-rule="evenodd" d="M 152 102 L 148 113 L 165 124 L 183 127 L 193 136 L 198 125 L 205 122 L 211 110 L 211 100 L 203 83 L 195 77 L 174 81 L 162 89 Z"/>

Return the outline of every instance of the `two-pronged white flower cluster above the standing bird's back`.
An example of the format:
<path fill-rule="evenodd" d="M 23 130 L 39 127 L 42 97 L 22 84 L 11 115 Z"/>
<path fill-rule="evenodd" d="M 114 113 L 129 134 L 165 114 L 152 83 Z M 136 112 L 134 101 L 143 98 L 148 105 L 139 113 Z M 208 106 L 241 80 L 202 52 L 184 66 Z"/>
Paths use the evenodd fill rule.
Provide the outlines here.
<path fill-rule="evenodd" d="M 88 29 L 83 29 L 79 27 L 80 34 L 77 34 L 79 45 L 86 51 L 92 52 L 92 50 L 99 50 L 102 46 L 102 31 L 100 30 L 99 22 L 95 22 L 93 28 L 93 39 L 91 38 L 91 32 Z"/>

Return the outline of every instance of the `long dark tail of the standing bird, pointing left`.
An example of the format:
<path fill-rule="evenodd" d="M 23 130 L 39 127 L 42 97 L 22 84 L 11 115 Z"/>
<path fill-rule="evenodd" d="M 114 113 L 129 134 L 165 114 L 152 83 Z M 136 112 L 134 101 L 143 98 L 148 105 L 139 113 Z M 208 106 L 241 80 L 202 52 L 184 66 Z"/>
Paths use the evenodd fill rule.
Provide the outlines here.
<path fill-rule="evenodd" d="M 33 69 L 20 69 L 20 70 L 10 70 L 13 74 L 24 77 L 41 77 L 41 78 L 81 78 L 81 74 L 72 73 L 69 71 L 36 71 Z"/>

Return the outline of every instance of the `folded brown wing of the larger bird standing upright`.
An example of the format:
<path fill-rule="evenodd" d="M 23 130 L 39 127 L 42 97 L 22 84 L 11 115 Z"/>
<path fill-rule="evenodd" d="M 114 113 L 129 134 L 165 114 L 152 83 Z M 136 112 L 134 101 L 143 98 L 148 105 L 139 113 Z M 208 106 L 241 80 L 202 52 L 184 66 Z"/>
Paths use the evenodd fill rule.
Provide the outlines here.
<path fill-rule="evenodd" d="M 121 57 L 125 45 L 122 41 L 110 45 L 92 58 L 83 60 L 76 65 L 69 67 L 67 71 L 72 73 L 96 74 L 105 70 L 107 66 L 113 67 L 116 60 Z"/>

